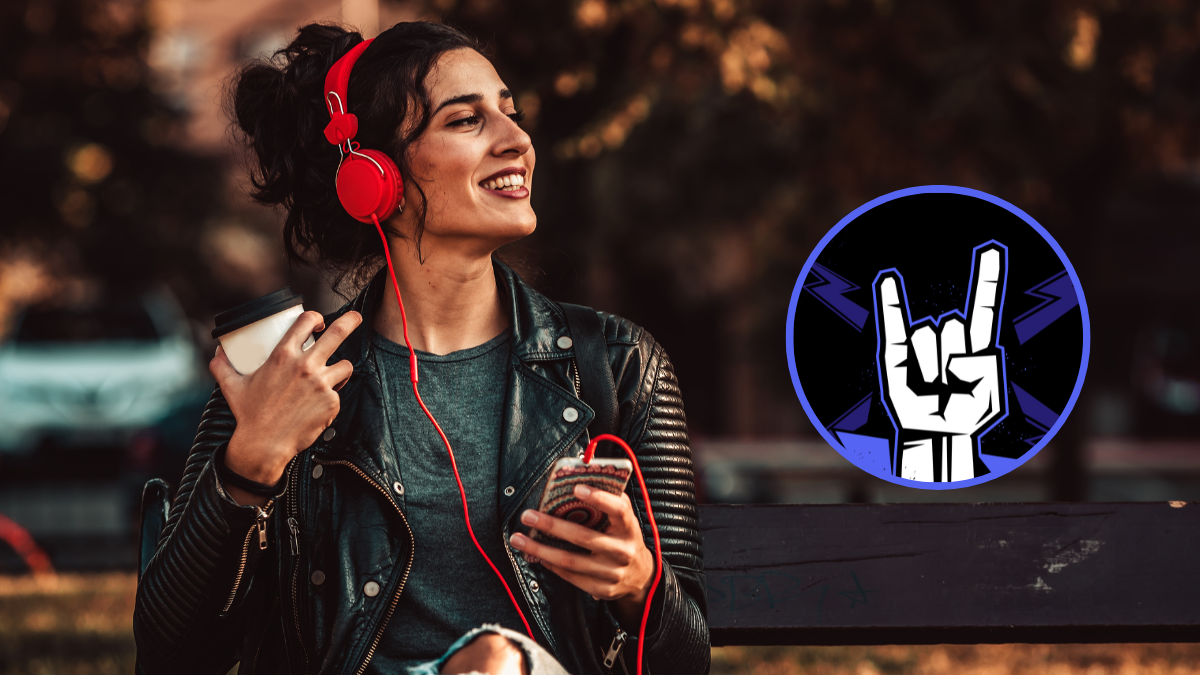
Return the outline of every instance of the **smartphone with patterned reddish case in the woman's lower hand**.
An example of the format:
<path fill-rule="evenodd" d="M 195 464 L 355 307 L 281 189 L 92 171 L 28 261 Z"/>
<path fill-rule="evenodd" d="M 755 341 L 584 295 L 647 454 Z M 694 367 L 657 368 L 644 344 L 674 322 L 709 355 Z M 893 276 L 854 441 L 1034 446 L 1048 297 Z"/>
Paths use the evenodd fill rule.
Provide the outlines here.
<path fill-rule="evenodd" d="M 550 478 L 546 488 L 541 492 L 541 502 L 538 510 L 569 520 L 571 522 L 590 527 L 596 532 L 608 530 L 608 514 L 594 506 L 580 501 L 575 496 L 576 485 L 587 485 L 593 490 L 604 490 L 612 495 L 620 495 L 625 491 L 629 476 L 634 472 L 634 465 L 628 459 L 600 459 L 593 458 L 592 464 L 584 464 L 581 458 L 563 458 L 550 468 Z M 575 552 L 588 552 L 587 549 L 577 546 L 570 542 L 564 542 L 558 537 L 552 537 L 541 530 L 533 530 L 530 533 L 535 540 L 554 548 Z M 536 556 L 526 555 L 529 562 L 538 562 Z"/>

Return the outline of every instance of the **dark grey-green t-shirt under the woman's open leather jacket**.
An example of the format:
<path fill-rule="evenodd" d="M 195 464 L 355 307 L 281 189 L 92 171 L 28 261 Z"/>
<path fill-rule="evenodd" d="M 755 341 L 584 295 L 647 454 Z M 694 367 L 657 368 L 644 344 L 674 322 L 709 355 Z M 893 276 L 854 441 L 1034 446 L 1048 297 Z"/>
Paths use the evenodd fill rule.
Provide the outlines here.
<path fill-rule="evenodd" d="M 496 503 L 509 340 L 504 331 L 478 347 L 444 356 L 416 351 L 421 399 L 454 448 L 475 537 L 502 571 L 511 565 Z M 514 631 L 524 627 L 467 533 L 450 458 L 413 395 L 408 348 L 378 334 L 373 342 L 415 551 L 370 671 L 403 675 L 404 667 L 442 656 L 481 623 Z"/>

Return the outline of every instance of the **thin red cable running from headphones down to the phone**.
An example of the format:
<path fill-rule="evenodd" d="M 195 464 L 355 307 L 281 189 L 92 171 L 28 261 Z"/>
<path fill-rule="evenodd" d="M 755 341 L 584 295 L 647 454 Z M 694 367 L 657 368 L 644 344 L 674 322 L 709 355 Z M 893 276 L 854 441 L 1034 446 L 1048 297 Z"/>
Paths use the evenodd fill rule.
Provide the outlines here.
<path fill-rule="evenodd" d="M 450 447 L 450 440 L 446 438 L 445 431 L 442 430 L 442 425 L 438 424 L 438 420 L 433 419 L 433 413 L 430 412 L 430 408 L 425 407 L 425 401 L 421 400 L 421 393 L 416 388 L 416 351 L 413 350 L 413 344 L 408 339 L 408 316 L 404 313 L 404 300 L 400 297 L 400 285 L 396 283 L 396 270 L 391 264 L 391 251 L 388 247 L 388 238 L 383 233 L 379 219 L 372 215 L 371 220 L 374 221 L 376 231 L 379 233 L 379 239 L 383 241 L 383 255 L 388 261 L 388 273 L 391 275 L 391 287 L 396 291 L 396 303 L 400 305 L 400 319 L 404 329 L 404 345 L 408 347 L 408 370 L 409 380 L 413 382 L 413 394 L 416 396 L 416 402 L 421 406 L 421 411 L 425 412 L 425 417 L 427 417 L 430 423 L 433 424 L 433 428 L 438 430 L 438 436 L 442 437 L 442 442 L 446 447 L 446 454 L 450 455 L 450 467 L 454 470 L 454 479 L 458 484 L 458 496 L 462 497 L 462 515 L 467 521 L 467 533 L 470 534 L 470 540 L 475 544 L 475 549 L 479 551 L 479 555 L 484 556 L 484 560 L 487 561 L 487 566 L 492 568 L 492 572 L 496 573 L 500 584 L 504 585 L 504 592 L 509 595 L 509 601 L 512 602 L 512 607 L 517 610 L 517 615 L 521 616 L 521 622 L 524 623 L 526 633 L 529 634 L 529 639 L 536 641 L 538 639 L 533 634 L 533 628 L 529 627 L 529 621 L 526 619 L 524 613 L 521 611 L 521 605 L 517 603 L 516 596 L 512 595 L 509 583 L 504 580 L 504 575 L 500 574 L 499 569 L 497 569 L 492 558 L 484 552 L 484 546 L 479 544 L 479 539 L 475 538 L 475 531 L 470 526 L 470 512 L 467 508 L 467 491 L 462 486 L 462 478 L 458 477 L 458 464 L 454 459 L 454 449 Z M 588 443 L 587 449 L 583 452 L 583 461 L 586 464 L 592 462 L 592 458 L 595 455 L 596 444 L 599 444 L 600 441 L 612 441 L 620 446 L 622 449 L 625 450 L 625 454 L 629 455 L 630 461 L 634 464 L 634 473 L 637 476 L 637 484 L 642 489 L 642 498 L 646 502 L 646 518 L 649 520 L 650 531 L 654 533 L 654 581 L 650 584 L 650 591 L 646 596 L 646 608 L 642 610 L 642 625 L 637 632 L 636 673 L 640 674 L 642 673 L 642 647 L 646 643 L 646 622 L 650 616 L 650 601 L 654 599 L 654 591 L 658 589 L 659 580 L 662 577 L 662 545 L 659 542 L 659 526 L 654 521 L 654 512 L 650 508 L 650 494 L 649 490 L 646 489 L 646 480 L 642 478 L 642 470 L 637 464 L 637 456 L 634 454 L 634 450 L 630 449 L 629 444 L 612 434 L 601 434 Z"/>

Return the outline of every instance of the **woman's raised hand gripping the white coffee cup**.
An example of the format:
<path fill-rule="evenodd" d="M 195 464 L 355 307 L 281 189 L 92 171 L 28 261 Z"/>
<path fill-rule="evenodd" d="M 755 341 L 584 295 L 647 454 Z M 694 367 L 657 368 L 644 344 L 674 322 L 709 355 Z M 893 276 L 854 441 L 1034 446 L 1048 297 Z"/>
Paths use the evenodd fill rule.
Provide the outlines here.
<path fill-rule="evenodd" d="M 229 402 L 238 426 L 226 449 L 230 471 L 274 485 L 287 464 L 317 441 L 341 410 L 337 389 L 354 371 L 349 360 L 325 365 L 334 351 L 362 323 L 362 315 L 349 311 L 324 325 L 320 312 L 300 313 L 262 366 L 248 375 L 238 372 L 223 345 L 209 362 L 209 370 Z M 307 351 L 306 339 L 322 331 Z M 266 503 L 265 497 L 228 488 L 242 504 Z"/>

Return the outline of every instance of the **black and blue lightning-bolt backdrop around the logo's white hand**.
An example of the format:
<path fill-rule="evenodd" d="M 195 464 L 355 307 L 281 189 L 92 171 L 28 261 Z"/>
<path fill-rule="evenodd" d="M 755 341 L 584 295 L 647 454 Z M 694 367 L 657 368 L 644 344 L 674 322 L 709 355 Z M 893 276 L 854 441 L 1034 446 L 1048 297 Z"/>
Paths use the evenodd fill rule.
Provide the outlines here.
<path fill-rule="evenodd" d="M 1057 431 L 1084 380 L 1086 304 L 1057 244 L 1025 219 L 982 192 L 905 190 L 844 219 L 810 256 L 792 295 L 788 360 L 814 424 L 856 465 L 901 484 L 960 488 L 1010 471 Z M 895 268 L 912 322 L 965 315 L 973 250 L 989 240 L 1008 249 L 998 316 L 1007 414 L 978 437 L 973 479 L 898 478 L 898 430 L 881 399 L 872 283 Z"/>

